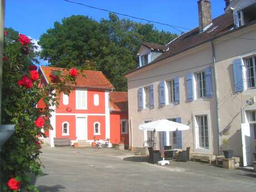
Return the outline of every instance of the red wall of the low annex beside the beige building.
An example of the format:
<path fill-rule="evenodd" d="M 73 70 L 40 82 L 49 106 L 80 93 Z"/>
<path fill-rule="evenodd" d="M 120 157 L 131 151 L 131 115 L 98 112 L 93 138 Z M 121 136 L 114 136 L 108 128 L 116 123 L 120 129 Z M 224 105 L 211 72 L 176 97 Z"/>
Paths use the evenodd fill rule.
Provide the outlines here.
<path fill-rule="evenodd" d="M 118 144 L 120 142 L 120 115 L 112 113 L 110 114 L 110 142 L 112 144 Z"/>

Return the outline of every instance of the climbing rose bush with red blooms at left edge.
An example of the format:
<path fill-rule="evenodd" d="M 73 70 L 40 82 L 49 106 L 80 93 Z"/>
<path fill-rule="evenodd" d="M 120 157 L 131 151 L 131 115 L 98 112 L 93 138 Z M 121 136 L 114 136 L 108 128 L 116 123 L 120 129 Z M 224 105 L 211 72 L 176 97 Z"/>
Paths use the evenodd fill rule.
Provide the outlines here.
<path fill-rule="evenodd" d="M 5 35 L 4 56 L 9 59 L 3 65 L 2 124 L 15 127 L 2 148 L 2 187 L 3 191 L 38 191 L 31 183 L 31 175 L 42 174 L 42 130 L 52 129 L 52 106 L 58 106 L 61 92 L 70 93 L 68 85 L 75 83 L 75 77 L 68 72 L 52 72 L 58 81 L 42 86 L 43 77 L 34 65 L 38 63 L 35 46 L 13 29 L 6 29 Z M 38 101 L 46 107 L 36 108 Z"/>

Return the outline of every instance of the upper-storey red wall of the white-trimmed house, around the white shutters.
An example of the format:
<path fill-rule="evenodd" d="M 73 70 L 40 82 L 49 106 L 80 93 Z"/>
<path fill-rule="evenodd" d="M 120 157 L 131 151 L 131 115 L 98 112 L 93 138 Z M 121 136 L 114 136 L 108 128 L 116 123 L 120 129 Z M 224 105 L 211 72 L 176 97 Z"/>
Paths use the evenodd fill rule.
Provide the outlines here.
<path fill-rule="evenodd" d="M 93 104 L 93 95 L 99 95 L 99 106 Z M 57 113 L 78 113 L 78 114 L 105 114 L 105 90 L 92 90 L 87 89 L 87 110 L 76 110 L 76 91 L 72 90 L 68 96 L 68 105 L 63 105 L 63 93 L 61 93 L 60 105 L 56 109 Z M 67 107 L 71 108 L 71 111 L 68 112 Z"/>

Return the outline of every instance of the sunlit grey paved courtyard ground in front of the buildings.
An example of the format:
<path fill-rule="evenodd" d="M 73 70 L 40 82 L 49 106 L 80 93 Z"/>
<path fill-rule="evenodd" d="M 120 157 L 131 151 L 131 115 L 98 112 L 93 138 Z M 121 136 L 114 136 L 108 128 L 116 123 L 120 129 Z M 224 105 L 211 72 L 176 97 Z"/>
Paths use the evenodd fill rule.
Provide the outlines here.
<path fill-rule="evenodd" d="M 170 161 L 152 165 L 130 151 L 44 147 L 40 192 L 87 191 L 255 191 L 256 174 L 204 163 Z"/>

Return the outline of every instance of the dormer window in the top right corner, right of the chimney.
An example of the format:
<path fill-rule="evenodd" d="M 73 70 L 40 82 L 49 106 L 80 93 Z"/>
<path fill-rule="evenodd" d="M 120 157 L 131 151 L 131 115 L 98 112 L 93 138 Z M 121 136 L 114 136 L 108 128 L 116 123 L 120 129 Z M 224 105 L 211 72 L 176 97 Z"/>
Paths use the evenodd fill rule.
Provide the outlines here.
<path fill-rule="evenodd" d="M 235 12 L 237 27 L 256 20 L 256 3 Z"/>

